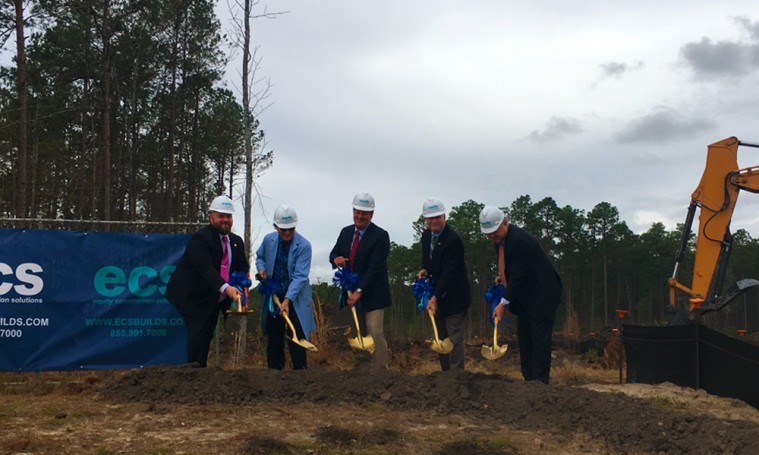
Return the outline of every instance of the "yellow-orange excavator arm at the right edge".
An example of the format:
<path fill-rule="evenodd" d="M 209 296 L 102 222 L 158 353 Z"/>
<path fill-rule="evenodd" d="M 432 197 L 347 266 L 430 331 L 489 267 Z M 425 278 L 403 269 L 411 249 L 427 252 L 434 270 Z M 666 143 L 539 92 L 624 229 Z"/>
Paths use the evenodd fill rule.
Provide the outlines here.
<path fill-rule="evenodd" d="M 688 215 L 683 227 L 680 248 L 675 258 L 675 269 L 669 279 L 670 304 L 677 302 L 677 291 L 689 295 L 691 310 L 706 302 L 706 309 L 724 307 L 722 282 L 732 247 L 730 220 L 740 190 L 759 192 L 759 166 L 738 169 L 738 147 L 757 147 L 730 137 L 711 144 L 706 155 L 706 168 L 698 187 L 691 196 Z M 677 280 L 677 270 L 690 239 L 696 209 L 700 209 L 696 235 L 696 258 L 693 280 L 688 287 Z M 742 280 L 740 286 L 754 286 L 756 280 Z M 759 285 L 759 282 L 756 282 Z M 740 287 L 739 286 L 739 287 Z M 744 289 L 741 287 L 739 293 Z M 733 291 L 734 292 L 734 291 Z M 737 294 L 736 294 L 737 295 Z M 734 297 L 734 295 L 733 295 Z M 731 297 L 732 298 L 732 297 Z M 722 301 L 719 301 L 722 299 Z"/>

